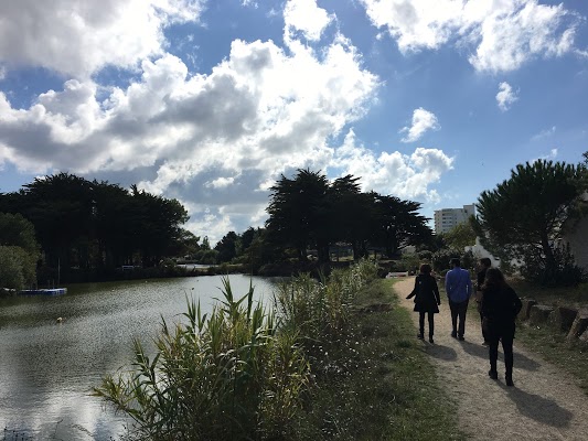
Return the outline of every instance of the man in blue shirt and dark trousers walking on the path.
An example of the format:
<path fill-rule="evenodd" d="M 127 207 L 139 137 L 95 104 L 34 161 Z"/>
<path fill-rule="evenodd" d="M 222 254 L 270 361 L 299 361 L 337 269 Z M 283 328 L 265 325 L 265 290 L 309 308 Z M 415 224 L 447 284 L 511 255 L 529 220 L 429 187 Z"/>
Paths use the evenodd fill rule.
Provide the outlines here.
<path fill-rule="evenodd" d="M 468 311 L 468 302 L 473 291 L 472 281 L 470 279 L 470 272 L 460 267 L 458 258 L 451 259 L 451 268 L 445 277 L 445 290 L 449 300 L 451 324 L 453 325 L 451 336 L 463 341 L 463 334 L 466 333 L 466 312 Z"/>

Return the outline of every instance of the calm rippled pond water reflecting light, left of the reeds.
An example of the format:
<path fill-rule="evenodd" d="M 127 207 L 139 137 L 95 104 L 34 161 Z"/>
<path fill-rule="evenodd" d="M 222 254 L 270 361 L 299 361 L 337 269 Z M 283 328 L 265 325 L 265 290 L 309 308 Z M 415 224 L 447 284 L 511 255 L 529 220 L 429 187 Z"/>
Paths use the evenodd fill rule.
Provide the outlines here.
<path fill-rule="evenodd" d="M 231 276 L 235 295 L 244 295 L 250 281 L 257 298 L 270 298 L 270 280 L 238 275 Z M 209 276 L 77 284 L 65 295 L 0 299 L 0 438 L 12 440 L 17 430 L 34 440 L 118 439 L 125 421 L 88 396 L 90 388 L 129 364 L 132 338 L 149 343 L 161 315 L 179 321 L 186 295 L 211 311 L 221 286 L 221 277 Z"/>

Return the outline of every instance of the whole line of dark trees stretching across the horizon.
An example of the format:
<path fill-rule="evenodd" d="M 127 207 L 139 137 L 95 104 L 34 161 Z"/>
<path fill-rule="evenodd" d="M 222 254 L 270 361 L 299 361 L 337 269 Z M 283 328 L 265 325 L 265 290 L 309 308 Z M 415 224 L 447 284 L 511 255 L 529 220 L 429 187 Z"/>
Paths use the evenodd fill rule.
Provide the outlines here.
<path fill-rule="evenodd" d="M 177 200 L 136 185 L 126 190 L 60 173 L 0 194 L 0 213 L 13 216 L 0 217 L 0 263 L 23 261 L 21 267 L 29 269 L 21 272 L 29 276 L 21 279 L 30 280 L 31 261 L 42 257 L 41 281 L 47 272 L 54 278 L 56 268 L 94 271 L 99 279 L 124 265 L 158 267 L 177 257 L 240 263 L 256 272 L 280 261 L 312 258 L 328 263 L 341 249 L 349 249 L 354 260 L 371 251 L 397 258 L 415 246 L 419 254 L 410 268 L 425 259 L 442 269 L 450 255 L 463 254 L 478 237 L 506 270 L 543 284 L 574 284 L 586 272 L 563 239 L 588 214 L 588 152 L 584 158 L 576 165 L 546 160 L 518 164 L 510 179 L 481 193 L 470 223 L 446 235 L 432 233 L 429 219 L 418 214 L 418 202 L 362 192 L 360 178 L 353 175 L 329 181 L 321 172 L 298 170 L 292 178 L 281 175 L 270 189 L 264 227 L 228 232 L 214 247 L 206 236 L 200 243 L 183 228 L 189 216 Z M 10 233 L 14 228 L 39 246 L 31 240 L 22 246 Z M 9 267 L 3 266 L 4 272 Z M 2 277 L 0 272 L 0 284 Z"/>

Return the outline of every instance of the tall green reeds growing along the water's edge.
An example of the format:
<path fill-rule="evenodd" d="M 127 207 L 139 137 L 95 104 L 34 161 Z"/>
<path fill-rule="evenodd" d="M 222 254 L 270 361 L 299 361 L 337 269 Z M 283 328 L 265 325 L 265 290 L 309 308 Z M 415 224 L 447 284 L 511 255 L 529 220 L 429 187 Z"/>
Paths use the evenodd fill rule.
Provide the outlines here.
<path fill-rule="evenodd" d="M 300 276 L 279 287 L 271 310 L 254 305 L 253 287 L 235 298 L 225 278 L 210 316 L 189 302 L 184 324 L 162 320 L 157 355 L 136 341 L 131 369 L 107 375 L 94 395 L 133 419 L 131 439 L 297 439 L 308 422 L 309 361 L 327 373 L 328 352 L 349 351 L 355 295 L 376 273 L 375 262 L 361 261 L 329 279 Z"/>

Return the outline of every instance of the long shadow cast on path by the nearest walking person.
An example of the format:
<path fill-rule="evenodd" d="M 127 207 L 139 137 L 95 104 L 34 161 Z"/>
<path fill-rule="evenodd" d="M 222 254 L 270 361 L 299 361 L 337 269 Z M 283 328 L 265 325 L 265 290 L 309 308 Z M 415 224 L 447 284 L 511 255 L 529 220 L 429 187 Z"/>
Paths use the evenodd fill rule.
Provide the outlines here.
<path fill-rule="evenodd" d="M 501 384 L 501 387 L 507 390 L 509 398 L 514 401 L 518 411 L 525 417 L 557 428 L 569 426 L 574 415 L 557 405 L 554 400 L 543 398 L 538 395 L 527 394 L 516 387 L 511 388 L 503 384 Z"/>

